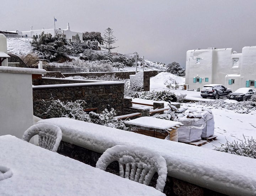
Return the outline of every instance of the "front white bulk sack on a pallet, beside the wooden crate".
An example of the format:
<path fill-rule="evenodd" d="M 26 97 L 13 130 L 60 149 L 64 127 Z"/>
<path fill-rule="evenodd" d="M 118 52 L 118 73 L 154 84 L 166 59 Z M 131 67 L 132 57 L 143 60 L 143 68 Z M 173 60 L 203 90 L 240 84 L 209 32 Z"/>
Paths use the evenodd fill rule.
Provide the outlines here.
<path fill-rule="evenodd" d="M 202 130 L 206 127 L 204 118 L 175 118 L 174 121 L 184 124 L 178 128 L 178 141 L 194 142 L 201 140 Z"/>

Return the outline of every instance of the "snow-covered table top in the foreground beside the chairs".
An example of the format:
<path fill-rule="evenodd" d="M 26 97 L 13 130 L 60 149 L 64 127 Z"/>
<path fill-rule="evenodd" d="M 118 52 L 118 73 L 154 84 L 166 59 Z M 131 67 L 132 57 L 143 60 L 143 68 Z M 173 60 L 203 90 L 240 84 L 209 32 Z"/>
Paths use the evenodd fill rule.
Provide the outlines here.
<path fill-rule="evenodd" d="M 0 195 L 19 196 L 164 196 L 144 184 L 91 167 L 11 135 L 0 136 L 0 165 L 10 178 L 0 181 Z"/>

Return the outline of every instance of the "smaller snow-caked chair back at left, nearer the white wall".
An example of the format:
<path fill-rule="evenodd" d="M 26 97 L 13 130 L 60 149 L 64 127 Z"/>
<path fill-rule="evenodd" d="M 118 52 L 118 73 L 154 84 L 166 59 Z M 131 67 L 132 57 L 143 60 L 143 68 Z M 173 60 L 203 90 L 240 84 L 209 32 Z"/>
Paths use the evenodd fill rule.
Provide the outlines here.
<path fill-rule="evenodd" d="M 62 140 L 62 131 L 59 127 L 47 123 L 32 125 L 24 132 L 22 140 L 29 142 L 34 135 L 38 135 L 38 146 L 57 152 Z"/>

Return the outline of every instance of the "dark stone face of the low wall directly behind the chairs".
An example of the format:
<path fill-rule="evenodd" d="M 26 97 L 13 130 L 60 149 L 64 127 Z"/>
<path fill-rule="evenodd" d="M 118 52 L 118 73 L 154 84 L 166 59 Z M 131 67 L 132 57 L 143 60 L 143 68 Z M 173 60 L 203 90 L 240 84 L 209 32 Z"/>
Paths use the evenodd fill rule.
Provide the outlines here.
<path fill-rule="evenodd" d="M 60 142 L 57 152 L 61 155 L 89 164 L 92 167 L 96 166 L 96 162 L 102 155 L 101 153 L 64 141 Z M 119 166 L 116 162 L 112 162 L 110 166 L 107 167 L 106 171 L 119 175 Z M 156 178 L 157 175 L 154 175 L 152 181 L 156 182 Z M 150 184 L 149 186 L 154 186 L 154 184 Z M 164 193 L 166 196 L 227 196 L 170 176 L 167 176 Z"/>

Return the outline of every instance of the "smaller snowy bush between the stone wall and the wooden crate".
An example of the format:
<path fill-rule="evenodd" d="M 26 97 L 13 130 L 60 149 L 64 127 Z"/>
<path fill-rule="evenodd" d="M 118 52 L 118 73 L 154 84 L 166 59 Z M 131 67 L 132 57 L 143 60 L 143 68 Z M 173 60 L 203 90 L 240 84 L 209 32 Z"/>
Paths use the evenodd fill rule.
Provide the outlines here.
<path fill-rule="evenodd" d="M 116 111 L 113 108 L 111 108 L 110 111 L 105 109 L 100 114 L 90 112 L 89 116 L 92 123 L 104 125 L 107 127 L 113 127 L 117 129 L 128 130 L 124 121 L 114 118 L 114 116 L 116 116 Z"/>

